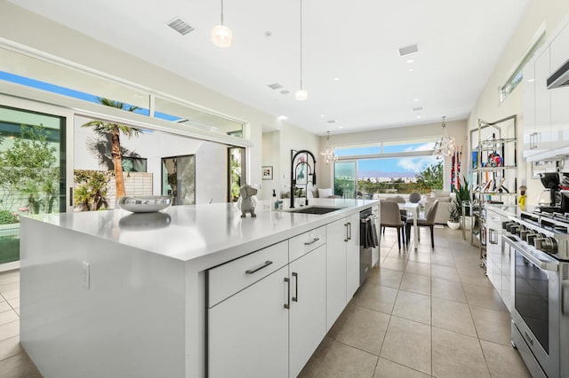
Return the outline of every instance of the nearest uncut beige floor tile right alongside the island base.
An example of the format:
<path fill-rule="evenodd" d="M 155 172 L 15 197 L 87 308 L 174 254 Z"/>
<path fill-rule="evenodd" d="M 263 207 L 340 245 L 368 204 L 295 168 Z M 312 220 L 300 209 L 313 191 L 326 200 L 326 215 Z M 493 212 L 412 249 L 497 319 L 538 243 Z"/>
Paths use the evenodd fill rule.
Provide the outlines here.
<path fill-rule="evenodd" d="M 388 324 L 389 314 L 357 307 L 349 315 L 337 340 L 379 356 Z"/>

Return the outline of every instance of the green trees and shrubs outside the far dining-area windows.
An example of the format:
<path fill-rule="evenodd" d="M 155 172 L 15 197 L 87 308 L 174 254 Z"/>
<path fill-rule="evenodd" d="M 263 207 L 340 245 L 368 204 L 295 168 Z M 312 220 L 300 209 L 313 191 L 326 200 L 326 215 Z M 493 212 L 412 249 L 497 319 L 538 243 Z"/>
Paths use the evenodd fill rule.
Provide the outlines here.
<path fill-rule="evenodd" d="M 421 170 L 416 175 L 416 183 L 405 183 L 402 179 L 397 179 L 383 183 L 373 183 L 369 180 L 357 181 L 357 193 L 354 187 L 353 180 L 349 178 L 335 178 L 334 179 L 334 194 L 344 196 L 346 198 L 353 198 L 354 194 L 357 196 L 363 193 L 430 193 L 433 190 L 443 189 L 443 161 L 438 161 L 433 165 L 429 165 Z"/>

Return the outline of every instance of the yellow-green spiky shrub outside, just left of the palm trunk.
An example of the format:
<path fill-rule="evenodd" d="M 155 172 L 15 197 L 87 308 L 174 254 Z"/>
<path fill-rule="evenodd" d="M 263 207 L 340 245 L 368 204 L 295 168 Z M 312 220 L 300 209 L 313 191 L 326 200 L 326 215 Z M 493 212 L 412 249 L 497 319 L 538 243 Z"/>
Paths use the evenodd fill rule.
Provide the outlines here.
<path fill-rule="evenodd" d="M 108 181 L 111 173 L 100 170 L 75 169 L 76 188 L 73 193 L 76 207 L 81 211 L 108 209 Z"/>

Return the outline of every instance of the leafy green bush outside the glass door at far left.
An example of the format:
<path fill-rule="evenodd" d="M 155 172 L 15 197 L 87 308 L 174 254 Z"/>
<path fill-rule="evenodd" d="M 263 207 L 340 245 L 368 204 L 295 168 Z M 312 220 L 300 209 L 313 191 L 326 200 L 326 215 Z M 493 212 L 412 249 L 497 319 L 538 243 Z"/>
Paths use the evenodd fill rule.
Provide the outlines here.
<path fill-rule="evenodd" d="M 0 151 L 0 209 L 25 205 L 30 214 L 51 213 L 58 200 L 57 148 L 43 125 L 20 126 L 20 138 Z"/>

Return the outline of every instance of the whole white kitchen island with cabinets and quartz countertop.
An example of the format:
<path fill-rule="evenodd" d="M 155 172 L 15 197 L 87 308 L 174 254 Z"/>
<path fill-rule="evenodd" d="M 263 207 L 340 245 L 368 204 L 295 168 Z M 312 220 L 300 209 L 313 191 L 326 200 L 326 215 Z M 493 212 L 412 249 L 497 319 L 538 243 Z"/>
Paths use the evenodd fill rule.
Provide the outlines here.
<path fill-rule="evenodd" d="M 293 334 L 288 328 L 247 337 L 272 342 L 282 336 L 288 343 L 290 335 L 295 343 L 300 335 L 298 343 L 309 345 L 305 350 L 289 350 L 288 344 L 247 347 L 272 350 L 274 365 L 268 357 L 253 356 L 267 369 L 281 366 L 271 376 L 294 376 L 357 289 L 359 211 L 377 201 L 310 204 L 342 209 L 299 214 L 271 211 L 268 202 L 260 201 L 254 218 L 241 218 L 234 204 L 24 218 L 21 343 L 46 377 L 222 376 L 215 358 L 224 368 L 232 367 L 223 347 L 229 345 L 238 355 L 249 344 L 220 330 L 246 330 L 239 320 L 252 319 L 254 308 L 242 305 L 243 300 L 251 288 L 269 287 L 260 283 L 275 280 L 277 317 L 285 316 L 289 327 L 289 316 L 291 324 L 314 324 L 303 318 L 311 314 L 320 330 L 310 340 L 307 332 Z M 263 264 L 254 261 L 257 257 Z M 247 270 L 233 269 L 241 265 Z M 303 275 L 307 270 L 308 277 Z M 325 307 L 294 310 L 309 295 Z M 253 371 L 262 374 L 258 366 Z"/>

